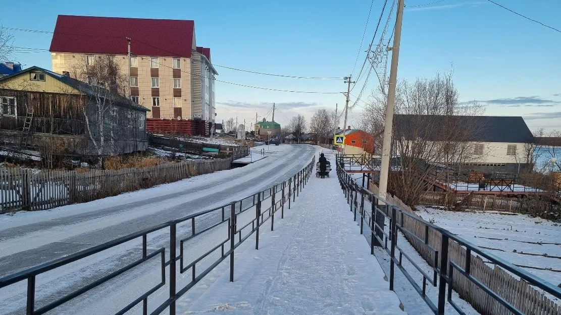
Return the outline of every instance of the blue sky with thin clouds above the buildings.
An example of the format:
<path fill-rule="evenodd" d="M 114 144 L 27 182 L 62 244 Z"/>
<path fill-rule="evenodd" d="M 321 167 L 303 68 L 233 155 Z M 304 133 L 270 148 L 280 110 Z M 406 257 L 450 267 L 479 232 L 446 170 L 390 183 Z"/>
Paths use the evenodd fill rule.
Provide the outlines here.
<path fill-rule="evenodd" d="M 432 76 L 454 67 L 461 101 L 479 100 L 487 115 L 521 115 L 530 129 L 561 129 L 561 33 L 514 15 L 486 0 L 406 0 L 400 78 Z M 495 0 L 561 29 L 559 0 Z M 211 48 L 217 65 L 290 76 L 343 77 L 351 73 L 370 0 L 334 1 L 22 1 L 3 0 L 4 27 L 52 31 L 58 14 L 175 18 L 195 21 L 197 45 Z M 391 3 L 391 0 L 388 1 Z M 358 59 L 374 34 L 383 0 L 374 0 Z M 389 7 L 389 6 L 388 6 Z M 393 23 L 393 22 L 392 22 Z M 393 25 L 393 24 L 392 24 Z M 51 34 L 10 31 L 15 46 L 48 49 Z M 377 42 L 377 39 L 376 39 Z M 50 53 L 19 53 L 17 61 L 50 69 Z M 217 67 L 218 79 L 298 91 L 346 91 L 343 80 L 275 78 Z M 377 80 L 373 76 L 364 99 Z M 359 82 L 352 92 L 357 96 Z M 256 90 L 217 84 L 218 120 L 265 115 L 278 104 L 275 121 L 320 107 L 339 109 L 344 96 Z M 360 104 L 360 102 L 359 102 Z M 351 125 L 360 115 L 352 110 Z M 286 116 L 286 117 L 285 117 Z M 270 119 L 271 116 L 269 115 Z M 262 119 L 262 117 L 260 117 Z M 253 118 L 255 120 L 255 118 Z M 341 121 L 341 125 L 342 125 Z"/>

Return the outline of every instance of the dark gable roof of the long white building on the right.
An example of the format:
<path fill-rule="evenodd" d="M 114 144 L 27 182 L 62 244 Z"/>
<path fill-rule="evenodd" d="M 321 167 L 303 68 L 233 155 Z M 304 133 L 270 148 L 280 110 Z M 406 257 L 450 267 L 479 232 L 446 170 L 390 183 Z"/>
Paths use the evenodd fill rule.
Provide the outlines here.
<path fill-rule="evenodd" d="M 444 115 L 400 115 L 394 116 L 394 129 L 402 137 L 412 140 L 419 130 L 426 133 L 427 140 L 442 139 L 444 126 L 476 126 L 466 141 L 530 143 L 534 136 L 521 116 L 444 116 Z M 415 130 L 417 129 L 417 130 Z"/>

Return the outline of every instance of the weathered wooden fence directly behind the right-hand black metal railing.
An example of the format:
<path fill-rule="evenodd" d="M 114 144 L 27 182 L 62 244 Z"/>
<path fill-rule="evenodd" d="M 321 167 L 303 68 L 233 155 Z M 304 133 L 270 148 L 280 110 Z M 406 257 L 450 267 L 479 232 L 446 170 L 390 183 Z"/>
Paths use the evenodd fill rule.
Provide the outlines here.
<path fill-rule="evenodd" d="M 371 182 L 370 190 L 377 193 L 378 187 Z M 404 205 L 397 196 L 388 196 L 388 202 L 408 213 L 417 215 L 409 206 Z M 402 218 L 398 217 L 397 219 L 401 220 Z M 426 229 L 425 223 L 407 216 L 403 216 L 403 228 L 415 234 L 420 239 L 425 239 L 425 233 L 428 232 L 429 245 L 433 246 L 439 253 L 442 252 L 442 234 L 439 231 L 435 231 L 431 228 Z M 408 235 L 404 236 L 424 260 L 431 267 L 435 267 L 434 252 L 429 250 L 424 242 L 419 241 L 419 239 Z M 465 247 L 459 245 L 452 239 L 449 240 L 448 262 L 456 262 L 456 264 L 465 268 L 466 254 Z M 440 259 L 438 259 L 437 264 L 440 264 Z M 561 305 L 556 304 L 542 292 L 528 285 L 526 281 L 514 278 L 508 271 L 505 271 L 499 266 L 489 266 L 479 256 L 471 255 L 470 274 L 527 315 L 561 315 Z M 453 273 L 453 281 L 453 289 L 459 294 L 459 297 L 470 303 L 481 315 L 512 314 L 512 312 L 508 311 L 502 304 L 497 302 L 489 294 L 484 292 L 484 290 L 479 288 L 479 286 L 472 283 L 459 272 Z"/>

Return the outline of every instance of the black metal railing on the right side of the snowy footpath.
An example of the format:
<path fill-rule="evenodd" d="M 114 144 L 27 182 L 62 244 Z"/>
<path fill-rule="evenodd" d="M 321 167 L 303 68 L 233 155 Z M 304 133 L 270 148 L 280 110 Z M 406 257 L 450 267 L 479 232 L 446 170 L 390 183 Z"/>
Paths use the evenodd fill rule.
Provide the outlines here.
<path fill-rule="evenodd" d="M 486 285 L 472 274 L 472 260 L 473 257 L 475 257 L 472 254 L 474 254 L 484 258 L 487 260 L 486 262 L 493 264 L 495 268 L 498 266 L 510 272 L 514 277 L 522 279 L 528 285 L 539 288 L 553 295 L 555 298 L 561 299 L 561 288 L 530 274 L 500 257 L 482 250 L 480 247 L 473 245 L 471 242 L 466 241 L 466 239 L 458 237 L 456 234 L 430 222 L 426 222 L 410 211 L 399 209 L 381 200 L 379 196 L 367 190 L 364 185 L 361 186 L 358 184 L 357 180 L 353 179 L 350 174 L 345 172 L 339 163 L 337 163 L 337 175 L 341 188 L 347 198 L 347 203 L 350 204 L 350 209 L 355 215 L 355 220 L 360 219 L 360 233 L 365 234 L 364 229 L 370 229 L 371 254 L 374 255 L 374 247 L 379 246 L 390 256 L 390 290 L 394 289 L 395 267 L 397 266 L 434 314 L 444 314 L 446 302 L 452 305 L 459 314 L 465 314 L 452 299 L 452 289 L 456 289 L 454 279 L 458 278 L 458 276 L 454 276 L 454 274 L 458 272 L 473 284 L 473 290 L 475 290 L 475 288 L 477 288 L 477 290 L 482 290 L 493 300 L 498 302 L 503 309 L 516 315 L 526 314 L 526 312 L 522 310 L 525 307 L 514 306 L 515 304 L 522 305 L 525 303 L 525 301 L 520 301 L 520 299 L 522 299 L 521 295 L 512 294 L 511 292 L 511 298 L 507 299 L 504 297 L 504 288 L 499 288 L 497 290 L 491 289 L 490 285 Z M 405 224 L 405 222 L 407 222 L 407 224 Z M 418 224 L 411 224 L 415 222 Z M 420 230 L 424 231 L 424 233 L 414 233 L 414 231 L 408 229 L 406 225 L 410 227 L 412 225 L 420 226 L 422 227 Z M 407 255 L 403 248 L 400 247 L 397 242 L 398 231 L 401 232 L 404 238 L 410 241 L 410 243 L 416 243 L 417 247 L 429 253 L 429 255 L 426 256 L 432 257 L 432 261 L 430 259 L 427 260 L 427 263 L 431 265 L 430 272 L 426 271 L 426 266 L 423 267 L 417 264 L 415 260 Z M 418 234 L 421 234 L 421 237 L 419 237 Z M 431 240 L 434 240 L 435 235 L 440 237 L 440 246 L 432 246 L 431 242 L 429 242 L 429 237 L 431 237 Z M 461 248 L 465 250 L 465 255 L 460 255 L 463 257 L 462 261 L 458 261 L 458 255 L 453 255 L 449 248 Z M 407 265 L 413 266 L 415 270 L 411 270 L 411 268 L 407 269 L 406 266 L 402 264 L 404 259 L 408 261 L 409 264 Z M 417 283 L 412 276 L 412 272 L 419 272 L 422 277 L 421 284 Z M 433 301 L 427 296 L 427 285 L 431 285 L 435 288 L 438 286 L 438 299 L 436 301 Z M 514 290 L 514 288 L 509 289 Z M 500 293 L 498 291 L 500 291 Z M 544 305 L 547 307 L 550 302 L 551 301 L 545 302 L 544 300 Z M 526 303 L 526 307 L 527 305 L 528 303 Z M 553 305 L 553 302 L 551 305 Z M 538 307 L 538 305 L 534 306 Z"/>

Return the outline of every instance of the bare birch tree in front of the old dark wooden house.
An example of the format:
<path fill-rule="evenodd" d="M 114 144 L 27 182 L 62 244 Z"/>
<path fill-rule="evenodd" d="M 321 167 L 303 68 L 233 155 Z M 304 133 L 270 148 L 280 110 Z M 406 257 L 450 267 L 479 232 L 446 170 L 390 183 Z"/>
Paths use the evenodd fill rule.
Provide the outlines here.
<path fill-rule="evenodd" d="M 115 152 L 115 104 L 125 95 L 128 86 L 127 78 L 122 73 L 114 57 L 108 55 L 76 63 L 72 71 L 74 78 L 89 83 L 80 86 L 81 92 L 86 96 L 80 98 L 80 107 L 100 164 L 105 154 L 111 155 Z"/>

